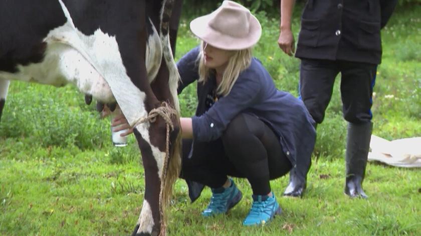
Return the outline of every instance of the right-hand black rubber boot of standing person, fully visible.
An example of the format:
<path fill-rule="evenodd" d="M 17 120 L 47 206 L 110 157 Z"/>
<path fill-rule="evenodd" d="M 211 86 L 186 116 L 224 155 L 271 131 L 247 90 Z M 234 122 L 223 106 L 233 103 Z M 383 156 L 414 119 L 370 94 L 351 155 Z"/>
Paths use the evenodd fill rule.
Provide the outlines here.
<path fill-rule="evenodd" d="M 370 148 L 371 122 L 363 124 L 348 123 L 346 140 L 346 179 L 345 194 L 350 197 L 367 198 L 362 189 L 365 167 L 367 165 L 368 149 Z"/>

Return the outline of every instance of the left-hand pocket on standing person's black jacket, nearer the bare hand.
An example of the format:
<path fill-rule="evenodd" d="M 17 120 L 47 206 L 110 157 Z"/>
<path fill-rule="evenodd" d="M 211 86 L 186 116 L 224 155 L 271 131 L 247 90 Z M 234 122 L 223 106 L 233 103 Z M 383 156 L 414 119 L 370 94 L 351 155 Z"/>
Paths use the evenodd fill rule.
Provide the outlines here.
<path fill-rule="evenodd" d="M 301 19 L 301 30 L 298 35 L 298 45 L 317 46 L 319 40 L 320 21 L 318 19 Z"/>

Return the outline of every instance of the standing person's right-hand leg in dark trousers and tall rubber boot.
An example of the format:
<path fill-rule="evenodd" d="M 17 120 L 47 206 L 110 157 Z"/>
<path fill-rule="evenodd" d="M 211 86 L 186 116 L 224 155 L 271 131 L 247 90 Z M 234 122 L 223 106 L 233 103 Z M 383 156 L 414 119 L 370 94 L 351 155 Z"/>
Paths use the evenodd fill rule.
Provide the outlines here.
<path fill-rule="evenodd" d="M 347 120 L 345 194 L 366 198 L 362 189 L 372 131 L 372 93 L 377 65 L 341 61 L 341 96 Z"/>

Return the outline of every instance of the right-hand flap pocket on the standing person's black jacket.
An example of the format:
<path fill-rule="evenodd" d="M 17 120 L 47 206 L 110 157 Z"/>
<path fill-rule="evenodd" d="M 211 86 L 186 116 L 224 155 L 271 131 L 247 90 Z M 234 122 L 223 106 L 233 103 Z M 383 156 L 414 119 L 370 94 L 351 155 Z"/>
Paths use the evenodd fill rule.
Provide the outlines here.
<path fill-rule="evenodd" d="M 359 22 L 358 48 L 381 50 L 380 22 Z"/>

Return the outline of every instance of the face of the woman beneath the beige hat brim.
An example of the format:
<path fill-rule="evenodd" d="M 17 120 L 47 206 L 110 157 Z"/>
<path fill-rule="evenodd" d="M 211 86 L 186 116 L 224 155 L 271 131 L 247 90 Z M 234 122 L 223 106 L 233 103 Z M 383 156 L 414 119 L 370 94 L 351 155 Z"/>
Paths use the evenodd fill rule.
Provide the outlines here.
<path fill-rule="evenodd" d="M 208 68 L 223 72 L 233 54 L 233 50 L 220 49 L 203 41 L 204 65 Z"/>

